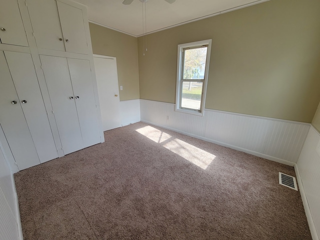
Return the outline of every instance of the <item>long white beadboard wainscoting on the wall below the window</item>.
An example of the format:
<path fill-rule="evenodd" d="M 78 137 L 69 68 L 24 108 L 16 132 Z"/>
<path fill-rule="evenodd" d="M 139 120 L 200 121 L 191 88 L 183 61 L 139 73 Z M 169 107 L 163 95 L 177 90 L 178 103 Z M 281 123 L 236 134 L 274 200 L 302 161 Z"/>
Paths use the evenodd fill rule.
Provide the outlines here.
<path fill-rule="evenodd" d="M 177 112 L 174 104 L 140 99 L 141 121 L 293 166 L 309 123 L 205 109 Z"/>

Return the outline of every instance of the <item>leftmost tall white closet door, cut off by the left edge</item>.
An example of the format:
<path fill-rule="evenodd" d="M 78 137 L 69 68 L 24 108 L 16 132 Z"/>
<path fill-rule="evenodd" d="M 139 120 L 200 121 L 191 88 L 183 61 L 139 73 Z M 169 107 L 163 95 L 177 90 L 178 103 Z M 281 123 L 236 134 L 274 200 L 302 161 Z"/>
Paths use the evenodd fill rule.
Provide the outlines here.
<path fill-rule="evenodd" d="M 15 162 L 19 170 L 40 164 L 3 51 L 0 51 L 0 75 L 0 124 Z"/>

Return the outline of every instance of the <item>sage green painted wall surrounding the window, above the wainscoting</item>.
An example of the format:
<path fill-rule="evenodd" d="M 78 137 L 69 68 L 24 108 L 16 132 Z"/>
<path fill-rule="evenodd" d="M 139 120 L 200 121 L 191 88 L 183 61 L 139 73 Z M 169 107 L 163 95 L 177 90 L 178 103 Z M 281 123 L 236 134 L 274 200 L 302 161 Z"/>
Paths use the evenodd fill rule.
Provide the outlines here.
<path fill-rule="evenodd" d="M 177 44 L 212 39 L 205 108 L 311 122 L 320 1 L 270 0 L 138 38 L 140 98 L 175 102 Z"/>

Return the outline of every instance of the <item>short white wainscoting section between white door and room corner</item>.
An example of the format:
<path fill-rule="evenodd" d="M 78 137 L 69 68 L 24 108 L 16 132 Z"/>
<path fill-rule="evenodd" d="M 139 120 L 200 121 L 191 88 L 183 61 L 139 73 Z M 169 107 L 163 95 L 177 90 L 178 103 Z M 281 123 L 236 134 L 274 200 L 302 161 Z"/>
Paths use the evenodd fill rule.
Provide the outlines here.
<path fill-rule="evenodd" d="M 121 125 L 140 121 L 140 99 L 120 101 Z"/>

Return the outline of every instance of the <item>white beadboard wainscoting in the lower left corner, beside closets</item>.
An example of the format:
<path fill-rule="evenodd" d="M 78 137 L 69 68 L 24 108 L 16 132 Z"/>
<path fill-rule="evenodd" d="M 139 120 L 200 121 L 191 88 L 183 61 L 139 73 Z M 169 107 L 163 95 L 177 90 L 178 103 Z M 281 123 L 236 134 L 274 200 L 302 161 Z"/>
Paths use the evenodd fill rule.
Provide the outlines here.
<path fill-rule="evenodd" d="M 0 239 L 23 239 L 17 195 L 10 170 L 0 144 Z"/>

